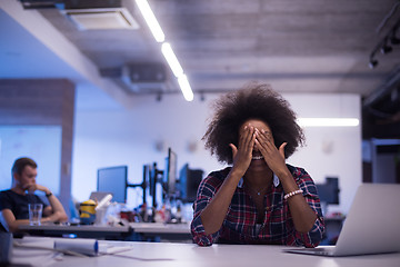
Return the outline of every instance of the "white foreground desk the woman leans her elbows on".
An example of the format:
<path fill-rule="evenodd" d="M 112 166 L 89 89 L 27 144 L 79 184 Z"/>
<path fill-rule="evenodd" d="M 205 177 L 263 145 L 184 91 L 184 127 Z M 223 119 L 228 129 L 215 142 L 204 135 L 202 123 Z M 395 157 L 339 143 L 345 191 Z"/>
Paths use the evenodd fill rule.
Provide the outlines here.
<path fill-rule="evenodd" d="M 399 267 L 400 253 L 368 255 L 356 257 L 328 258 L 320 256 L 294 255 L 283 253 L 282 246 L 264 245 L 213 245 L 211 247 L 199 247 L 196 244 L 177 243 L 130 243 L 130 241 L 106 241 L 113 246 L 124 246 L 129 250 L 119 253 L 120 256 L 98 256 L 79 258 L 63 256 L 59 261 L 53 260 L 50 266 L 71 267 Z M 18 248 L 23 249 L 23 248 Z M 21 253 L 21 251 L 19 251 Z M 23 253 L 23 251 L 22 251 Z"/>

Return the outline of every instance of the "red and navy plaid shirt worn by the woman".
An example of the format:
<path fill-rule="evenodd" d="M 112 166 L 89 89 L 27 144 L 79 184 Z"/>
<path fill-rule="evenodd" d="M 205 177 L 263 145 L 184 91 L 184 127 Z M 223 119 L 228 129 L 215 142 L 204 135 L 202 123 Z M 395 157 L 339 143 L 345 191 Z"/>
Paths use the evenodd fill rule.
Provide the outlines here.
<path fill-rule="evenodd" d="M 283 187 L 278 180 L 271 186 L 270 192 L 264 196 L 266 214 L 259 230 L 257 229 L 256 205 L 251 196 L 241 187 L 242 182 L 239 182 L 220 230 L 212 235 L 206 235 L 200 214 L 221 187 L 231 169 L 229 167 L 211 172 L 199 186 L 191 222 L 194 243 L 200 246 L 211 246 L 213 243 L 318 246 L 322 239 L 324 224 L 316 185 L 306 170 L 287 166 L 297 185 L 302 189 L 307 202 L 317 214 L 316 222 L 309 233 L 299 233 L 294 229 L 288 201 L 283 199 Z"/>

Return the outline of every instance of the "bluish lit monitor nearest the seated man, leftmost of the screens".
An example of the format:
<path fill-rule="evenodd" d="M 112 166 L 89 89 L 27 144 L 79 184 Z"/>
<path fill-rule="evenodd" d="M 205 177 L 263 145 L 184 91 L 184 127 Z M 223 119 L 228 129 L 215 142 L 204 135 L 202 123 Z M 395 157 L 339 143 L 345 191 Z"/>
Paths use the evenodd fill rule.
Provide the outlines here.
<path fill-rule="evenodd" d="M 127 201 L 128 167 L 117 166 L 98 169 L 98 191 L 111 192 L 112 200 Z"/>

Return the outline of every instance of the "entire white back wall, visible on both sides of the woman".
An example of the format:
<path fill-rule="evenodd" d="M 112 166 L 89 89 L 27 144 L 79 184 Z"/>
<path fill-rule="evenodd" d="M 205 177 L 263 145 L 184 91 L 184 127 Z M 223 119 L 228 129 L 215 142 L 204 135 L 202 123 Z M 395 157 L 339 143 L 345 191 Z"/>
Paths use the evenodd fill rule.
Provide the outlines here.
<path fill-rule="evenodd" d="M 198 97 L 198 96 L 197 96 Z M 84 200 L 96 190 L 97 169 L 128 165 L 130 182 L 142 178 L 143 164 L 158 162 L 163 169 L 168 147 L 178 154 L 178 169 L 186 162 L 207 172 L 221 168 L 203 149 L 201 137 L 212 115 L 207 95 L 186 102 L 180 95 L 140 97 L 131 110 L 83 111 L 76 113 L 72 195 Z M 284 95 L 300 117 L 360 118 L 360 99 L 353 95 Z M 308 146 L 288 159 L 304 167 L 317 182 L 326 176 L 338 176 L 341 205 L 332 207 L 347 212 L 357 186 L 361 182 L 361 130 L 353 128 L 307 128 Z M 162 149 L 157 150 L 157 145 Z M 196 145 L 191 151 L 189 146 Z M 331 149 L 328 149 L 328 148 Z M 130 196 L 132 204 L 140 197 Z M 138 200 L 139 200 L 138 199 Z"/>

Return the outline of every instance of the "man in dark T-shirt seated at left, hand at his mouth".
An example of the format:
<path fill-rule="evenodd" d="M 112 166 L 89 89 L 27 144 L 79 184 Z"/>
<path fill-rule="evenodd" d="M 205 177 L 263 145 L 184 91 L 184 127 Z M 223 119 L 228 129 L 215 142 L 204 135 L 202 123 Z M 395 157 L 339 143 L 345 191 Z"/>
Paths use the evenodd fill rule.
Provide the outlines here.
<path fill-rule="evenodd" d="M 11 170 L 12 188 L 0 191 L 0 222 L 3 230 L 14 233 L 18 231 L 19 225 L 29 224 L 28 204 L 43 204 L 41 222 L 68 220 L 58 198 L 49 188 L 36 182 L 37 167 L 37 164 L 30 158 L 19 158 L 14 161 Z M 50 205 L 33 195 L 36 190 L 43 191 Z"/>

